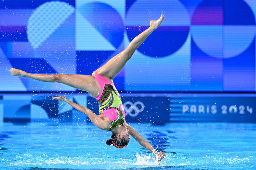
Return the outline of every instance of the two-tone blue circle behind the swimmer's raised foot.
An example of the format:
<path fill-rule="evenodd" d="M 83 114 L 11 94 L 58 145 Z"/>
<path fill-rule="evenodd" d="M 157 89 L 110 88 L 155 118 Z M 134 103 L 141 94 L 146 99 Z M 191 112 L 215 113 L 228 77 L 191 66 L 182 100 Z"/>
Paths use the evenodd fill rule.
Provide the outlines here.
<path fill-rule="evenodd" d="M 137 0 L 128 9 L 126 31 L 130 41 L 149 27 L 149 21 L 165 19 L 137 49 L 151 57 L 164 57 L 176 52 L 188 37 L 190 18 L 184 5 L 178 0 Z"/>

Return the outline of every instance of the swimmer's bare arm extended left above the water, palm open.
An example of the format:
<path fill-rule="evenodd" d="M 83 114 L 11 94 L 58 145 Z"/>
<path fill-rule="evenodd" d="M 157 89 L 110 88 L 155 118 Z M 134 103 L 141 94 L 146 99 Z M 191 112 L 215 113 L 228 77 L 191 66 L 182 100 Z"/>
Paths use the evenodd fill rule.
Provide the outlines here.
<path fill-rule="evenodd" d="M 83 107 L 81 105 L 78 105 L 74 102 L 71 102 L 64 96 L 57 95 L 57 97 L 52 97 L 52 99 L 67 102 L 72 107 L 74 107 L 76 110 L 83 112 L 90 118 L 90 120 L 96 127 L 100 128 L 102 130 L 110 129 L 110 124 L 107 121 L 105 121 L 104 119 L 102 119 L 101 117 L 99 117 L 98 115 L 96 115 L 95 113 L 93 113 L 90 109 Z"/>

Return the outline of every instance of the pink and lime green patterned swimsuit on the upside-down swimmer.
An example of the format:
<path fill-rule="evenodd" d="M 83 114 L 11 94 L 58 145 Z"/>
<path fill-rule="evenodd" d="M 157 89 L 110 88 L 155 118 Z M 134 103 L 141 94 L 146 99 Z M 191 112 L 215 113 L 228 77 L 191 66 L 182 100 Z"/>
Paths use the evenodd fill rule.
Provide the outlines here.
<path fill-rule="evenodd" d="M 112 124 L 109 131 L 112 131 L 124 124 L 125 112 L 121 97 L 112 82 L 100 74 L 94 74 L 93 77 L 100 84 L 100 94 L 95 98 L 99 102 L 99 115 L 102 114 L 110 119 Z"/>

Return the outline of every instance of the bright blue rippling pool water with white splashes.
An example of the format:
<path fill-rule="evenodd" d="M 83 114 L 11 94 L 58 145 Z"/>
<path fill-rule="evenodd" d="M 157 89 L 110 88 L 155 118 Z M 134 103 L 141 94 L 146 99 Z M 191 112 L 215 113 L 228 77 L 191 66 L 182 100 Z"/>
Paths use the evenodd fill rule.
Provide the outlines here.
<path fill-rule="evenodd" d="M 4 123 L 0 169 L 256 169 L 256 124 L 130 123 L 166 157 L 159 165 L 135 139 L 106 145 L 111 132 L 90 123 Z"/>

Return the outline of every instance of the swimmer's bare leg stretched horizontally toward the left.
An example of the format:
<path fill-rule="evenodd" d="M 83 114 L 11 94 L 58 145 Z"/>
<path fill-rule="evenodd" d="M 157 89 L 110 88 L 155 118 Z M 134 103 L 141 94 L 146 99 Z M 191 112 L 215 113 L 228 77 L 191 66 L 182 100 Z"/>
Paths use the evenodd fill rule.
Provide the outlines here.
<path fill-rule="evenodd" d="M 14 76 L 29 77 L 44 82 L 58 82 L 76 89 L 87 91 L 91 96 L 97 97 L 100 93 L 100 86 L 93 76 L 81 74 L 32 74 L 22 70 L 12 68 L 11 74 Z"/>

